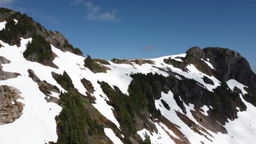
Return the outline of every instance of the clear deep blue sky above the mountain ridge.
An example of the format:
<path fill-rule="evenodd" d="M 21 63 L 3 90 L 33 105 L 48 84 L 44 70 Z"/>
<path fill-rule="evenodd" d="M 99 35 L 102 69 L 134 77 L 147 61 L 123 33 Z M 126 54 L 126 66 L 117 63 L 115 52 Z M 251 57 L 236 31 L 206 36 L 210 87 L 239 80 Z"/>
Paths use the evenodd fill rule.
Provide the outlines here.
<path fill-rule="evenodd" d="M 85 55 L 153 58 L 192 46 L 235 50 L 256 71 L 256 1 L 0 0 L 60 31 Z"/>

